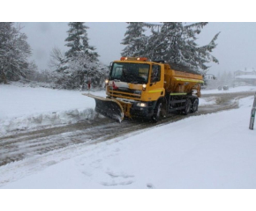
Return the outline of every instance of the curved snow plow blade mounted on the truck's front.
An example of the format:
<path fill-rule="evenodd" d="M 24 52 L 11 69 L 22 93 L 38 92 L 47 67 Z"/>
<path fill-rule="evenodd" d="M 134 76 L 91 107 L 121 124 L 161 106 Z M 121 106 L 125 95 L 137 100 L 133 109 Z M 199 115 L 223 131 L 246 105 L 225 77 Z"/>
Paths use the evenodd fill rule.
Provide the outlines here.
<path fill-rule="evenodd" d="M 92 94 L 82 94 L 95 99 L 95 111 L 101 113 L 103 116 L 109 117 L 112 120 L 121 122 L 124 120 L 124 109 L 122 105 L 115 99 L 102 98 Z"/>

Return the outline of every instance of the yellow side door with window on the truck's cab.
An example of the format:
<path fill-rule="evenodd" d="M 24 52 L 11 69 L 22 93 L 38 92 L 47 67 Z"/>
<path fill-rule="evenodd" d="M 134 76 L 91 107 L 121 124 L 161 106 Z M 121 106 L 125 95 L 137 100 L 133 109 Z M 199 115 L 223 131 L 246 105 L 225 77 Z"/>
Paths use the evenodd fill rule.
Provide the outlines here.
<path fill-rule="evenodd" d="M 161 74 L 161 66 L 153 64 L 148 89 L 149 98 L 151 98 L 148 98 L 149 100 L 157 100 L 158 98 L 164 95 L 162 76 L 163 74 Z"/>

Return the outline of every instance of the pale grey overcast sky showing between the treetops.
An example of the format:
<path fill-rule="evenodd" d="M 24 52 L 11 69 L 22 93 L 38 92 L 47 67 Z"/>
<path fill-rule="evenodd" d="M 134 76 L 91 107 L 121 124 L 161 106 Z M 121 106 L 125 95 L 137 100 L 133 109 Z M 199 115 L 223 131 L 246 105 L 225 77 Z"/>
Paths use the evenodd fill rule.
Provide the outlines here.
<path fill-rule="evenodd" d="M 68 25 L 64 22 L 25 22 L 20 23 L 33 49 L 32 59 L 39 69 L 48 69 L 49 54 L 53 47 L 66 50 L 65 39 Z M 124 22 L 87 22 L 89 44 L 96 47 L 100 61 L 109 64 L 120 58 L 124 45 L 127 24 Z M 236 71 L 237 69 L 256 70 L 256 22 L 209 22 L 200 33 L 198 44 L 205 45 L 220 33 L 218 46 L 212 53 L 219 60 L 213 63 L 208 73 Z"/>

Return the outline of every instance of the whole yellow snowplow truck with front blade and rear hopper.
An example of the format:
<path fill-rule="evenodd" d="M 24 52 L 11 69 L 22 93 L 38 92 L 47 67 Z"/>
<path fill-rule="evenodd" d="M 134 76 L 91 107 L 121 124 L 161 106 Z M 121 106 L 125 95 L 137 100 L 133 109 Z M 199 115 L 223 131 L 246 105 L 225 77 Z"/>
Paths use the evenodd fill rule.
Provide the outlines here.
<path fill-rule="evenodd" d="M 124 117 L 156 122 L 173 112 L 194 113 L 203 77 L 178 68 L 163 61 L 121 57 L 112 62 L 106 80 L 107 97 L 84 95 L 95 99 L 96 112 L 119 122 Z"/>

